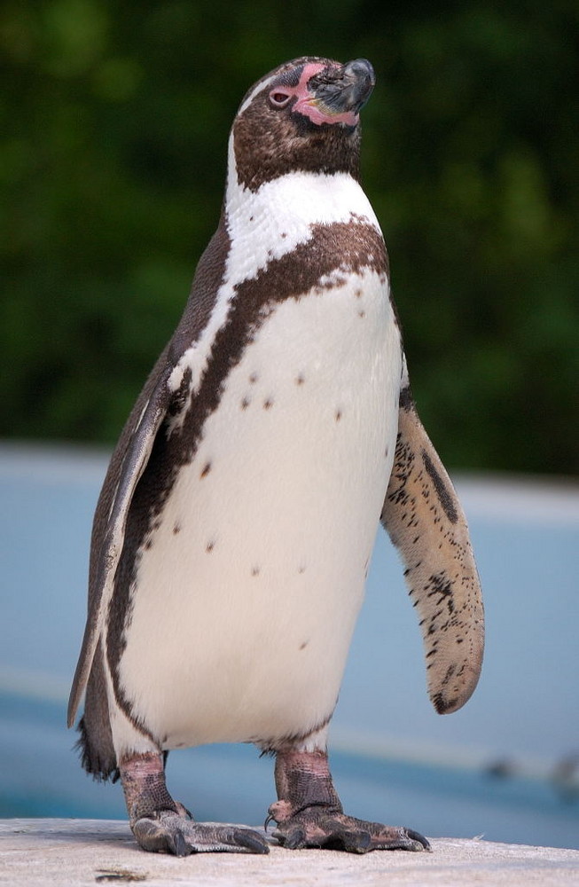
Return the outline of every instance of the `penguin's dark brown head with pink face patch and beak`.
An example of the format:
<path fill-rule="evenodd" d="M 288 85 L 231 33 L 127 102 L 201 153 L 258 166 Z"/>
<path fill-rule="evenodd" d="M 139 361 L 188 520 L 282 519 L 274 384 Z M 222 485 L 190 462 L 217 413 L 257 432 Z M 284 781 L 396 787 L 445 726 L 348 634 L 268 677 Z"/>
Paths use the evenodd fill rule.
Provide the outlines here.
<path fill-rule="evenodd" d="M 286 62 L 246 93 L 231 130 L 239 184 L 250 191 L 291 172 L 358 178 L 360 109 L 372 65 L 306 56 Z"/>

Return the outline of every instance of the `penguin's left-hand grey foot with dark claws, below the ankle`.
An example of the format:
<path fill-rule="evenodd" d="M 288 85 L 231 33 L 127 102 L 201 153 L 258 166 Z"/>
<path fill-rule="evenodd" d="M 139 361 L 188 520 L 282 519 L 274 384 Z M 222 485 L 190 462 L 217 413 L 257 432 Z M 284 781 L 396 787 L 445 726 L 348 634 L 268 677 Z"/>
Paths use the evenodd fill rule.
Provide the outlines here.
<path fill-rule="evenodd" d="M 195 822 L 172 810 L 155 811 L 131 822 L 131 828 L 139 846 L 153 853 L 270 852 L 264 838 L 250 828 Z"/>

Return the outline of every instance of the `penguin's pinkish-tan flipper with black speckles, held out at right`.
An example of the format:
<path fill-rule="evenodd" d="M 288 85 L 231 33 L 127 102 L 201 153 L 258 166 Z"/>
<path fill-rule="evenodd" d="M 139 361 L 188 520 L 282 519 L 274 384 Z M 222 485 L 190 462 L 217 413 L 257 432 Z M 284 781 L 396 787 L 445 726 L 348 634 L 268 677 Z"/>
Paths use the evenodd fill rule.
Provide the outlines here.
<path fill-rule="evenodd" d="M 447 714 L 466 703 L 481 673 L 481 585 L 465 514 L 408 385 L 400 394 L 394 467 L 380 520 L 403 558 L 419 612 L 428 695 L 439 714 Z"/>

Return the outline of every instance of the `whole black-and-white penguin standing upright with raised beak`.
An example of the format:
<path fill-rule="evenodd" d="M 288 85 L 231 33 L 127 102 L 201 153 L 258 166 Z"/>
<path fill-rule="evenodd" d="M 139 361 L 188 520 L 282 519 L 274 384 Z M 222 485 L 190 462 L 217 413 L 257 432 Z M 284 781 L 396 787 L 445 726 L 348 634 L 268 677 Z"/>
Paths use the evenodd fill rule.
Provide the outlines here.
<path fill-rule="evenodd" d="M 303 57 L 256 82 L 229 139 L 222 215 L 137 399 L 93 523 L 68 708 L 82 765 L 121 779 L 146 851 L 268 852 L 169 794 L 169 750 L 275 756 L 290 849 L 429 849 L 358 820 L 327 734 L 379 522 L 419 612 L 428 690 L 454 711 L 481 670 L 465 515 L 411 396 L 387 250 L 360 185 L 370 62 Z"/>

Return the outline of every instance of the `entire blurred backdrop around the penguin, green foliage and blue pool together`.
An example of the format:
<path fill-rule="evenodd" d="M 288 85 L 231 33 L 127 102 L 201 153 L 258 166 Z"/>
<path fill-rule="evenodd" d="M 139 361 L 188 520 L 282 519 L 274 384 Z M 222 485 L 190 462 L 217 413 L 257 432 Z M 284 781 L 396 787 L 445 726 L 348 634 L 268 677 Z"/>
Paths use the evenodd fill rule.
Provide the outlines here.
<path fill-rule="evenodd" d="M 566 0 L 4 0 L 0 815 L 122 815 L 62 726 L 91 514 L 215 230 L 239 101 L 314 54 L 376 69 L 364 188 L 489 618 L 478 693 L 437 719 L 380 540 L 336 716 L 342 796 L 382 819 L 408 802 L 428 834 L 579 845 L 578 25 Z M 171 766 L 197 815 L 258 821 L 267 763 L 194 754 Z"/>

